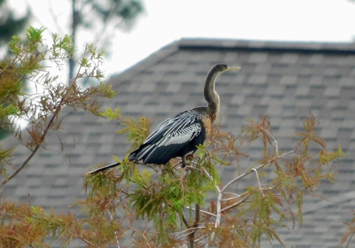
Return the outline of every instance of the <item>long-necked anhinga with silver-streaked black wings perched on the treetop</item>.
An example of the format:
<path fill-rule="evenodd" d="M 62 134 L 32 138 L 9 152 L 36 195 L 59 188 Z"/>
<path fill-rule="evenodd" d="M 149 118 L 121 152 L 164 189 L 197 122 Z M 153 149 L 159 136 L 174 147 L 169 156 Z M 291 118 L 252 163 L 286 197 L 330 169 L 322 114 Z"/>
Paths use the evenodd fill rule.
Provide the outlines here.
<path fill-rule="evenodd" d="M 227 65 L 215 65 L 208 73 L 204 85 L 204 98 L 207 107 L 197 107 L 169 118 L 157 126 L 143 144 L 133 151 L 128 160 L 140 161 L 143 164 L 163 165 L 171 158 L 181 157 L 181 166 L 185 167 L 186 155 L 197 150 L 203 144 L 206 132 L 219 114 L 219 96 L 214 89 L 217 76 L 224 71 L 240 69 Z M 118 166 L 120 163 L 98 168 L 88 174 L 104 171 Z"/>

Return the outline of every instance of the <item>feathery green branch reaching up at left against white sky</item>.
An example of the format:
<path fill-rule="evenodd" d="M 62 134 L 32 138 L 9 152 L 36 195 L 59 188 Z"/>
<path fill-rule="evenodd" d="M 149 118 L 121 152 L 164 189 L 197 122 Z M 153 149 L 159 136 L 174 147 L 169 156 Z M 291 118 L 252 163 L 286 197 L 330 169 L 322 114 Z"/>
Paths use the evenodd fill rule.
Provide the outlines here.
<path fill-rule="evenodd" d="M 104 75 L 99 66 L 103 62 L 103 52 L 97 52 L 93 45 L 87 45 L 82 57 L 86 63 L 79 66 L 75 79 L 69 85 L 60 82 L 59 75 L 54 73 L 59 73 L 62 64 L 73 53 L 71 37 L 53 34 L 53 43 L 47 45 L 43 40 L 44 30 L 29 27 L 25 39 L 13 36 L 9 42 L 12 55 L 0 61 L 0 128 L 8 130 L 32 152 L 28 160 L 16 168 L 9 160 L 13 149 L 0 148 L 0 187 L 26 166 L 48 131 L 59 128 L 58 115 L 63 107 L 82 108 L 99 115 L 101 104 L 96 97 L 116 95 L 111 86 L 101 82 Z M 52 68 L 50 72 L 51 66 L 57 70 Z M 82 78 L 93 78 L 98 85 L 81 88 L 78 81 Z M 29 134 L 26 140 L 23 131 Z"/>

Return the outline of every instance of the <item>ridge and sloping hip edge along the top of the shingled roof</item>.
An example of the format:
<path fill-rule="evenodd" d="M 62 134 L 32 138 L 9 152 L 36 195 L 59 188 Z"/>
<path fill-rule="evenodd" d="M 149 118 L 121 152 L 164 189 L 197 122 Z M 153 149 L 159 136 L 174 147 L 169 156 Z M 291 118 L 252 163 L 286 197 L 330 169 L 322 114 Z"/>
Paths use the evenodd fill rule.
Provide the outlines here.
<path fill-rule="evenodd" d="M 130 68 L 110 77 L 110 81 L 132 79 L 152 64 L 179 50 L 223 50 L 245 52 L 322 53 L 355 54 L 355 43 L 350 42 L 301 42 L 301 41 L 255 41 L 246 39 L 181 38 L 160 48 L 156 52 L 132 65 Z"/>

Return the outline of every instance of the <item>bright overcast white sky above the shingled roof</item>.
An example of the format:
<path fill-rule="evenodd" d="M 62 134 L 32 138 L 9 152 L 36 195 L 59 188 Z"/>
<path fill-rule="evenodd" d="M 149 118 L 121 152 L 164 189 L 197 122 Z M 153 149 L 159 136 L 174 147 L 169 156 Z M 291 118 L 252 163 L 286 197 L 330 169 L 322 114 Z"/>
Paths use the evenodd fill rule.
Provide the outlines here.
<path fill-rule="evenodd" d="M 18 9 L 24 0 L 11 0 Z M 70 1 L 25 0 L 36 14 L 34 26 L 58 30 L 50 15 L 55 11 L 62 27 L 69 25 Z M 352 42 L 355 3 L 347 0 L 143 0 L 145 14 L 129 33 L 115 31 L 109 76 L 146 58 L 182 37 Z M 51 4 L 49 4 L 51 3 Z M 95 26 L 95 23 L 93 23 Z M 81 34 L 81 38 L 90 34 Z M 80 46 L 80 42 L 78 46 Z"/>

